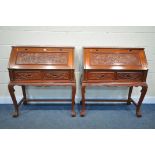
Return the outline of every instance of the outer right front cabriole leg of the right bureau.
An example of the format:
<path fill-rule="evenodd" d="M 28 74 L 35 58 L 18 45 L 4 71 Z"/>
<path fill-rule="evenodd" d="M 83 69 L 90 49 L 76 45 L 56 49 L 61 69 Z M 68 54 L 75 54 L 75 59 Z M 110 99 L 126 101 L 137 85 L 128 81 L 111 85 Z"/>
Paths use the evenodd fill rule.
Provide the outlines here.
<path fill-rule="evenodd" d="M 139 101 L 138 101 L 138 104 L 137 104 L 137 107 L 136 107 L 136 115 L 137 115 L 137 117 L 142 116 L 140 108 L 141 108 L 141 104 L 143 102 L 143 99 L 145 97 L 145 94 L 147 92 L 147 88 L 148 88 L 147 86 L 142 86 L 141 95 L 140 95 L 140 98 L 139 98 Z"/>

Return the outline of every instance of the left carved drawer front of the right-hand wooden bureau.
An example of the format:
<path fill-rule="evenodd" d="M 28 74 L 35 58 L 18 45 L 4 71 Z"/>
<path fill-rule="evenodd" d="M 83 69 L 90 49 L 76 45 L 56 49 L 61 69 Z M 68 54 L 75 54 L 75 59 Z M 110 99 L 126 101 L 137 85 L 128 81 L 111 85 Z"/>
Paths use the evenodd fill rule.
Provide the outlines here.
<path fill-rule="evenodd" d="M 115 74 L 114 72 L 97 72 L 92 71 L 87 73 L 88 80 L 114 80 Z"/>

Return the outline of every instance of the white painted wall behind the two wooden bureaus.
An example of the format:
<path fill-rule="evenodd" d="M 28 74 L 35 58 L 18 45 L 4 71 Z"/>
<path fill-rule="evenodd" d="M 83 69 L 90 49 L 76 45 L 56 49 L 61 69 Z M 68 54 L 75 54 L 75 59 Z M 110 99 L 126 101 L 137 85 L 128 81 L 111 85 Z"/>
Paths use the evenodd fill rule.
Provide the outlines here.
<path fill-rule="evenodd" d="M 0 103 L 11 103 L 7 84 L 9 81 L 7 65 L 11 46 L 74 46 L 75 76 L 77 80 L 76 103 L 81 99 L 80 76 L 83 70 L 82 47 L 142 47 L 149 64 L 147 82 L 149 89 L 144 103 L 155 103 L 155 27 L 0 27 Z M 67 90 L 67 91 L 66 91 Z M 125 98 L 127 88 L 104 87 L 88 88 L 87 98 Z M 133 92 L 139 97 L 139 88 Z M 29 97 L 70 98 L 69 87 L 28 87 Z M 21 97 L 21 89 L 16 87 L 16 95 Z"/>

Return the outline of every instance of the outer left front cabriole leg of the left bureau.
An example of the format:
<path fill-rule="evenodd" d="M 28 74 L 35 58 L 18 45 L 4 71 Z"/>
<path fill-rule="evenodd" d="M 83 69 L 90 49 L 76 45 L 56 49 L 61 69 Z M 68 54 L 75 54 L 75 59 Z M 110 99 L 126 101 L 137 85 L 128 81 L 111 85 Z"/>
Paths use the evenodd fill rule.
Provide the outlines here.
<path fill-rule="evenodd" d="M 19 107 L 18 107 L 16 96 L 15 96 L 15 93 L 14 93 L 15 92 L 14 85 L 9 84 L 8 89 L 9 89 L 9 93 L 10 93 L 10 96 L 12 98 L 13 105 L 14 105 L 14 108 L 15 108 L 15 111 L 13 112 L 12 116 L 13 117 L 18 117 L 19 116 Z"/>

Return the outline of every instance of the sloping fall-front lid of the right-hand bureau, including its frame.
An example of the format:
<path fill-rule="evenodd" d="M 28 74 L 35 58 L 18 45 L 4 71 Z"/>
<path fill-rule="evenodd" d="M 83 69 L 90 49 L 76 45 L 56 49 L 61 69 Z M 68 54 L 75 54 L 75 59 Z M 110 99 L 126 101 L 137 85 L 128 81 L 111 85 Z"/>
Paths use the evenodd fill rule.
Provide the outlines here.
<path fill-rule="evenodd" d="M 84 69 L 147 70 L 143 48 L 84 48 Z"/>

